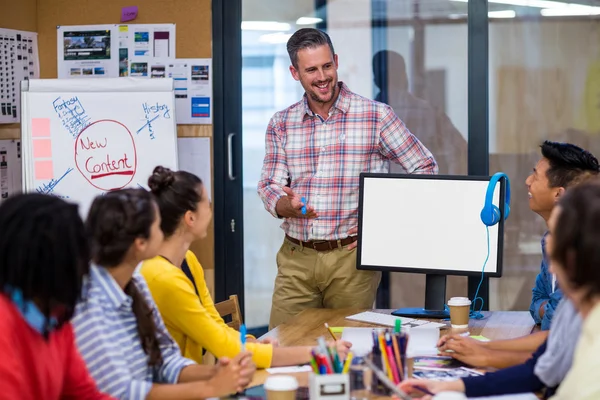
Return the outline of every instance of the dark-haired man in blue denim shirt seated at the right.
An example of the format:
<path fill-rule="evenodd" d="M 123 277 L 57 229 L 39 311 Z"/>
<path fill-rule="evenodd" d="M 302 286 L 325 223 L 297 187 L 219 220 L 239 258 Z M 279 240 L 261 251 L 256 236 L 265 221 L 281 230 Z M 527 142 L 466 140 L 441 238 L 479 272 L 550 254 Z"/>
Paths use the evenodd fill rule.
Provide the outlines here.
<path fill-rule="evenodd" d="M 546 224 L 558 198 L 565 190 L 588 175 L 598 174 L 598 160 L 573 144 L 545 141 L 542 158 L 533 168 L 525 184 L 531 211 L 544 218 Z M 532 290 L 529 312 L 542 330 L 550 328 L 554 310 L 562 298 L 556 278 L 548 270 L 546 235 L 542 238 L 542 265 Z"/>

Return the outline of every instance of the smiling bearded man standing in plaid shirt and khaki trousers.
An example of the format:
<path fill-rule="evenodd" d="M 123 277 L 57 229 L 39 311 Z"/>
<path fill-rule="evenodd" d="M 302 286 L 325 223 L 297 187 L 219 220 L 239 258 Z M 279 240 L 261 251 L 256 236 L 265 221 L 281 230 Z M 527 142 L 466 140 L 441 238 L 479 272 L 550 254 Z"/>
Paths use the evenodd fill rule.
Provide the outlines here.
<path fill-rule="evenodd" d="M 270 328 L 307 308 L 371 308 L 381 273 L 356 269 L 359 174 L 388 172 L 390 160 L 408 173 L 438 171 L 391 107 L 338 82 L 326 33 L 300 29 L 287 51 L 305 94 L 271 118 L 258 183 L 285 232 Z"/>

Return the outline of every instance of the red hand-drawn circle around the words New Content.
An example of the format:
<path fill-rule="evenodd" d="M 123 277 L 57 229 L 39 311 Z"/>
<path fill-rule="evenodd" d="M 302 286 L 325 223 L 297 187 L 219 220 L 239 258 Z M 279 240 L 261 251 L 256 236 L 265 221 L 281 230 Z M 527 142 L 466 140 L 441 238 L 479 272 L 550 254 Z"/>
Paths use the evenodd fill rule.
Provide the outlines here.
<path fill-rule="evenodd" d="M 137 149 L 125 125 L 101 119 L 86 126 L 75 139 L 75 166 L 100 190 L 122 189 L 137 170 Z"/>

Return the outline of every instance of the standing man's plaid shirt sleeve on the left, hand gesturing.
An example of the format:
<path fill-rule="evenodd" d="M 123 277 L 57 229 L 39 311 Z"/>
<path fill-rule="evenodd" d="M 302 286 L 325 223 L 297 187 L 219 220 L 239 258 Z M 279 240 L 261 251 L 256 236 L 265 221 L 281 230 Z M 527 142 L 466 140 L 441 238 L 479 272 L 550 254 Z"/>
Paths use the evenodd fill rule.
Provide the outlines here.
<path fill-rule="evenodd" d="M 275 218 L 277 215 L 277 202 L 283 196 L 283 186 L 287 184 L 289 176 L 285 149 L 278 133 L 278 116 L 274 116 L 267 127 L 265 139 L 265 158 L 262 173 L 258 181 L 258 195 L 263 201 L 267 211 Z"/>

